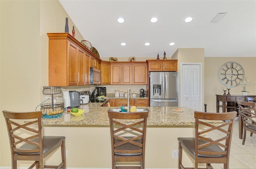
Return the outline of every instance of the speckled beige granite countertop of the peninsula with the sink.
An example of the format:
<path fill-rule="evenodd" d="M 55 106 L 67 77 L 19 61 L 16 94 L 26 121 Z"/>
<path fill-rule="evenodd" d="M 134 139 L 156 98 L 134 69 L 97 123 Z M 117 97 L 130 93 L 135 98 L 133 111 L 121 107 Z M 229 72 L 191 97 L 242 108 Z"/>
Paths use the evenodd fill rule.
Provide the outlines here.
<path fill-rule="evenodd" d="M 80 105 L 85 113 L 81 116 L 70 118 L 64 116 L 60 118 L 45 119 L 42 118 L 43 125 L 65 125 L 65 126 L 109 126 L 108 109 L 119 107 L 102 107 L 101 103 L 91 103 Z M 137 108 L 147 108 L 149 110 L 147 126 L 194 126 L 194 110 L 188 107 L 146 107 L 137 106 Z M 173 109 L 180 108 L 183 112 L 173 112 Z M 66 116 L 65 116 L 66 117 Z M 216 121 L 220 123 L 220 121 Z"/>

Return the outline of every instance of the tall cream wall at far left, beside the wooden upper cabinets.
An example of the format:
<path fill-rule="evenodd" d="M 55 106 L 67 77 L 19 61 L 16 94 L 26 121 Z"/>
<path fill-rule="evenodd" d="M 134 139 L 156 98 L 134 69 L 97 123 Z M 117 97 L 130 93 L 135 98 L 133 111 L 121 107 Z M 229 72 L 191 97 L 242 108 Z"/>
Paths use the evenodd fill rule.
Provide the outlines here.
<path fill-rule="evenodd" d="M 42 86 L 48 86 L 46 33 L 64 32 L 65 18 L 69 16 L 58 0 L 0 0 L 0 16 L 0 98 L 4 98 L 0 102 L 2 167 L 11 166 L 10 145 L 2 110 L 34 111 L 45 100 Z M 72 20 L 68 24 L 72 30 Z M 75 37 L 82 40 L 76 26 L 75 30 Z"/>

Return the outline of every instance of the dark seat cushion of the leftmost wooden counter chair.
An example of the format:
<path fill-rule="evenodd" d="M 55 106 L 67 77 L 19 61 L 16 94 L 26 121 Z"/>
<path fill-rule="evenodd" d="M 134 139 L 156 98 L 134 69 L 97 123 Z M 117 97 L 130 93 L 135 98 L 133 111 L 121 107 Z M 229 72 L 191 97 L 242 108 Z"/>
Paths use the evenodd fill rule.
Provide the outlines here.
<path fill-rule="evenodd" d="M 43 153 L 48 152 L 52 147 L 55 147 L 59 143 L 61 143 L 63 140 L 65 140 L 64 136 L 43 136 Z M 36 143 L 39 142 L 39 138 L 31 139 L 30 141 L 34 141 Z M 38 146 L 32 145 L 29 143 L 24 143 L 20 146 L 19 149 L 38 149 Z M 24 153 L 24 152 L 16 152 L 20 155 L 38 155 L 40 152 L 33 152 L 33 153 Z"/>

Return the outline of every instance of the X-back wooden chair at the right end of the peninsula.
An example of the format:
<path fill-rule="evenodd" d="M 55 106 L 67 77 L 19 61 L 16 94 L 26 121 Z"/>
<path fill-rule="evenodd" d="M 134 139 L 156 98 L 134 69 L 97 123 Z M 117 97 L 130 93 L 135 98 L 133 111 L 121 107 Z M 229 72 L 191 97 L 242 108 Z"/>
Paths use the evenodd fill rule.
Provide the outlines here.
<path fill-rule="evenodd" d="M 199 163 L 206 163 L 206 169 L 213 169 L 211 165 L 212 163 L 223 163 L 224 169 L 228 169 L 230 144 L 236 113 L 236 111 L 225 113 L 207 113 L 195 111 L 195 137 L 178 138 L 178 169 L 188 169 L 182 164 L 182 150 L 186 151 L 188 155 L 194 159 L 194 169 L 198 169 Z M 225 122 L 221 122 L 221 124 L 218 122 L 215 124 L 215 120 L 225 120 Z M 204 129 L 200 130 L 201 127 L 204 127 Z M 207 137 L 208 132 L 217 130 L 218 132 L 223 133 L 220 134 L 219 138 L 212 139 Z"/>

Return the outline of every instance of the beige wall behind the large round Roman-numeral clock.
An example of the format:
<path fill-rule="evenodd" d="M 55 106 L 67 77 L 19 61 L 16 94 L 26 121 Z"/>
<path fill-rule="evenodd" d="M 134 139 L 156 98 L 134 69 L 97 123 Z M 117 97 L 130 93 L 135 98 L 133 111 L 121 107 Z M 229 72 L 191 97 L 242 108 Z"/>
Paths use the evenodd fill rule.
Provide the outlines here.
<path fill-rule="evenodd" d="M 216 112 L 215 94 L 224 93 L 222 90 L 224 85 L 220 82 L 218 73 L 220 67 L 228 61 L 237 62 L 243 67 L 245 77 L 250 80 L 246 90 L 250 92 L 249 94 L 256 94 L 256 57 L 205 57 L 204 60 L 204 102 L 207 104 L 208 112 Z M 242 94 L 242 89 L 242 86 L 231 88 L 230 94 Z"/>

